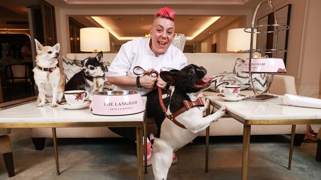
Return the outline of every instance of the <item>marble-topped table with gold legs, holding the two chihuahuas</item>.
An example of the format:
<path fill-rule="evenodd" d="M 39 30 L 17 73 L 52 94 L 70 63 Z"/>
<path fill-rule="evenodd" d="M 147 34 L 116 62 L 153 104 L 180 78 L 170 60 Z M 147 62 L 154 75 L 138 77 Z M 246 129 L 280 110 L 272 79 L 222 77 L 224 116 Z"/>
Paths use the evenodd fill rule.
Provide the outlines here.
<path fill-rule="evenodd" d="M 146 106 L 146 97 L 142 97 Z M 66 110 L 62 107 L 52 108 L 50 103 L 44 107 L 37 107 L 38 102 L 31 102 L 21 106 L 0 111 L 0 128 L 31 128 L 51 127 L 56 157 L 57 175 L 59 171 L 56 128 L 59 127 L 136 127 L 137 173 L 138 179 L 143 180 L 143 128 L 146 127 L 146 111 L 125 116 L 93 115 L 89 108 Z M 146 134 L 146 130 L 144 130 Z M 146 135 L 144 141 L 146 145 Z M 145 147 L 145 150 L 146 147 Z M 146 156 L 146 153 L 145 153 Z M 145 168 L 146 172 L 146 168 Z"/>

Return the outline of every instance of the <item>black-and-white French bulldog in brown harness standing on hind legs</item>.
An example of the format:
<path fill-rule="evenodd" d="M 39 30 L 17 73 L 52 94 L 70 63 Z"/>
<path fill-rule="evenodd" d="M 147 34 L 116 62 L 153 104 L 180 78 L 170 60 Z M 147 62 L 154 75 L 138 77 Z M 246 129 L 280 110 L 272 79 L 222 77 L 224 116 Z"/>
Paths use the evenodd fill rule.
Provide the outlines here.
<path fill-rule="evenodd" d="M 205 77 L 206 72 L 204 67 L 190 64 L 180 71 L 170 70 L 160 73 L 161 79 L 173 86 L 167 115 L 183 108 L 183 100 L 197 100 L 201 92 L 210 86 L 211 78 Z M 152 165 L 155 180 L 166 180 L 174 151 L 193 141 L 200 131 L 226 113 L 226 107 L 223 106 L 216 113 L 203 118 L 203 112 L 207 108 L 209 108 L 208 100 L 204 107 L 192 107 L 178 115 L 175 120 L 186 129 L 168 118 L 162 122 L 160 137 L 155 138 L 153 144 Z"/>

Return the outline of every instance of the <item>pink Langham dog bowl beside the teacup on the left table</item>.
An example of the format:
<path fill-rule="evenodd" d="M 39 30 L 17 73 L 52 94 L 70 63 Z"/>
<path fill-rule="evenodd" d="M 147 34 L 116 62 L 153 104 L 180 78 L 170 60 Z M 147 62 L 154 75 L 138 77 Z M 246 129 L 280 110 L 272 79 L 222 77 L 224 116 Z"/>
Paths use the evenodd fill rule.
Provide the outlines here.
<path fill-rule="evenodd" d="M 110 90 L 93 95 L 90 108 L 94 115 L 119 116 L 143 112 L 145 106 L 138 91 Z"/>

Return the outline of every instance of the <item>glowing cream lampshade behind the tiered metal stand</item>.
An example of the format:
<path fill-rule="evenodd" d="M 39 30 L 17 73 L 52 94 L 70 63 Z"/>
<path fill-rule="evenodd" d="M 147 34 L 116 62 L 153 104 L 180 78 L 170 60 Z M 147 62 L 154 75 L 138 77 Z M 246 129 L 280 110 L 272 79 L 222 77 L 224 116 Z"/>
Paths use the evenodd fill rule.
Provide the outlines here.
<path fill-rule="evenodd" d="M 256 32 L 256 29 L 254 29 Z M 253 36 L 253 49 L 256 49 L 256 33 Z M 251 33 L 244 32 L 244 28 L 227 31 L 226 51 L 244 51 L 250 49 Z"/>

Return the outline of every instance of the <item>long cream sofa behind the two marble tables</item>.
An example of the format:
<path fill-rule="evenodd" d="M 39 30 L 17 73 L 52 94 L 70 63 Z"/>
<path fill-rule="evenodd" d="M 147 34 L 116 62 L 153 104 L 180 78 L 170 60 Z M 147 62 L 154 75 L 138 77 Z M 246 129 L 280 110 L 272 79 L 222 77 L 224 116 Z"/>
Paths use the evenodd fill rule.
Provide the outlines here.
<path fill-rule="evenodd" d="M 67 58 L 72 60 L 83 60 L 94 54 L 67 54 Z M 104 61 L 111 62 L 116 54 L 104 54 Z M 188 63 L 201 65 L 207 69 L 207 75 L 211 76 L 224 71 L 233 72 L 235 62 L 238 58 L 246 59 L 248 54 L 216 54 L 216 53 L 185 53 Z M 289 93 L 296 94 L 294 78 L 286 75 L 275 75 L 270 92 L 274 94 Z M 213 91 L 204 92 L 205 95 L 216 96 Z M 253 95 L 252 90 L 243 90 L 241 94 Z M 156 125 L 153 120 L 148 121 L 149 131 L 153 131 Z M 88 128 L 57 128 L 58 138 L 81 138 L 81 137 L 119 137 L 111 132 L 107 127 L 88 127 Z M 302 134 L 305 134 L 306 125 L 296 126 L 296 137 L 299 139 L 297 145 L 303 140 Z M 52 137 L 51 128 L 32 128 L 32 139 L 36 149 L 43 149 L 44 140 L 47 137 Z M 148 132 L 150 133 L 150 132 Z M 290 125 L 256 125 L 251 128 L 251 134 L 290 134 Z M 243 125 L 241 122 L 230 117 L 223 117 L 210 125 L 210 135 L 242 135 Z M 200 136 L 204 136 L 205 131 L 201 132 Z"/>

